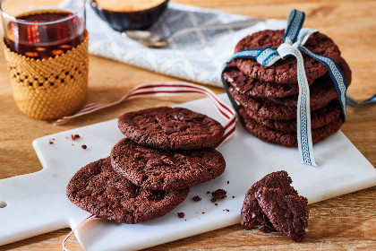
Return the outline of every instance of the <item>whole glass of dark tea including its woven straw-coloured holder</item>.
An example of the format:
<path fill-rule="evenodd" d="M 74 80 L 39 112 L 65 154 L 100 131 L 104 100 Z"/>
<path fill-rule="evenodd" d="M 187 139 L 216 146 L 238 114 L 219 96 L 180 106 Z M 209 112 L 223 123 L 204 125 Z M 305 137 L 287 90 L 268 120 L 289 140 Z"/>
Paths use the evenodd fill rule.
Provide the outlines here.
<path fill-rule="evenodd" d="M 55 119 L 85 102 L 85 0 L 0 0 L 4 55 L 18 108 Z"/>

